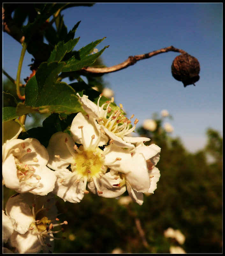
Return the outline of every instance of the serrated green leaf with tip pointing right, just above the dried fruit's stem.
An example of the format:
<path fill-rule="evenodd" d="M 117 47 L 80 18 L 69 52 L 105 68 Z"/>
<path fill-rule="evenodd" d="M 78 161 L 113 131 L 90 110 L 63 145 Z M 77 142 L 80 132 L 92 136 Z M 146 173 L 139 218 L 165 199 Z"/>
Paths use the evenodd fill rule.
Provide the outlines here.
<path fill-rule="evenodd" d="M 70 72 L 80 70 L 83 67 L 87 67 L 95 62 L 95 60 L 105 51 L 108 46 L 105 46 L 100 52 L 88 55 L 86 57 L 80 55 L 80 60 L 75 56 L 66 61 L 66 65 L 63 67 L 62 72 Z"/>

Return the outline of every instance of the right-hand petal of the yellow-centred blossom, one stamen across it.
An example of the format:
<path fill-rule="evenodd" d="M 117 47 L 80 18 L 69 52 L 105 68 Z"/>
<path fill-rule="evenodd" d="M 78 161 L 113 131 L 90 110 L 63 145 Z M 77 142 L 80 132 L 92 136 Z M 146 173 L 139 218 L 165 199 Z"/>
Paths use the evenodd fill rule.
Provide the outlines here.
<path fill-rule="evenodd" d="M 109 149 L 108 149 L 109 148 Z M 116 145 L 111 144 L 104 148 L 104 163 L 109 168 L 117 172 L 131 172 L 132 170 L 132 156 L 128 149 L 117 147 Z M 121 158 L 119 161 L 115 161 L 116 158 Z M 109 164 L 112 163 L 112 164 Z"/>

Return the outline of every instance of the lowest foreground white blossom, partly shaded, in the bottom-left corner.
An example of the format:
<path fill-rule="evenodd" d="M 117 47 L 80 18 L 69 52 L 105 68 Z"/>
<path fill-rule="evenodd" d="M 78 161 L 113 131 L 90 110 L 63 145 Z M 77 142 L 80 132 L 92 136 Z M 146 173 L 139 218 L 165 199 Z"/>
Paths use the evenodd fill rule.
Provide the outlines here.
<path fill-rule="evenodd" d="M 54 248 L 53 227 L 67 224 L 53 224 L 58 221 L 54 195 L 37 196 L 30 193 L 16 194 L 6 203 L 6 214 L 13 221 L 14 232 L 8 244 L 15 247 L 15 253 L 49 252 Z M 51 247 L 51 248 L 49 248 Z"/>

